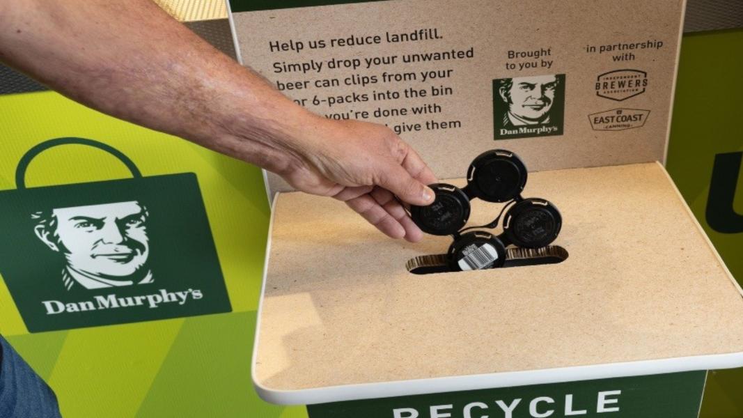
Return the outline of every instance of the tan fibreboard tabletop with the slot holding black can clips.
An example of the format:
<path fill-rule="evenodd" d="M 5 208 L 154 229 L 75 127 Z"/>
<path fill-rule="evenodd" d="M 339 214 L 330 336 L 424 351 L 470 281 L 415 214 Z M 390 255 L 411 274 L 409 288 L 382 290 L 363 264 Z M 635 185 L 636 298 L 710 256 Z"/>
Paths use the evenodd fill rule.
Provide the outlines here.
<path fill-rule="evenodd" d="M 485 388 L 743 364 L 739 287 L 660 164 L 530 173 L 523 195 L 557 205 L 554 244 L 567 260 L 415 275 L 406 261 L 444 253 L 450 237 L 392 240 L 342 202 L 279 194 L 254 347 L 259 392 L 312 403 L 447 379 Z M 474 201 L 468 225 L 500 209 Z M 272 395 L 303 391 L 323 396 Z"/>

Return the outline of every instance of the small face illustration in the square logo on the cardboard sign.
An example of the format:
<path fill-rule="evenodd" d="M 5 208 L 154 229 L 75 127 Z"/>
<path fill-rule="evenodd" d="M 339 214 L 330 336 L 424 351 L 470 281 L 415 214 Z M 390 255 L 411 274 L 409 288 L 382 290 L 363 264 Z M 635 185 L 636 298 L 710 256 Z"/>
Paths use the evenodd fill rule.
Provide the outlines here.
<path fill-rule="evenodd" d="M 517 77 L 509 91 L 502 91 L 502 94 L 513 115 L 539 121 L 546 118 L 552 108 L 556 86 L 557 77 L 554 75 Z"/>

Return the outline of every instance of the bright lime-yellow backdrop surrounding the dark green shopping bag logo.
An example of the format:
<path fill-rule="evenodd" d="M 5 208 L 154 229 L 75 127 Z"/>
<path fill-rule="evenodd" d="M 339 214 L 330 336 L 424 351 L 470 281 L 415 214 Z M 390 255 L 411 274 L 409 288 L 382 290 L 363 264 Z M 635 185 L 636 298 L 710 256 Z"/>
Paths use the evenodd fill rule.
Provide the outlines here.
<path fill-rule="evenodd" d="M 257 308 L 269 208 L 262 175 L 256 167 L 180 138 L 110 118 L 53 92 L 1 96 L 0 126 L 0 190 L 6 190 L 0 193 L 6 195 L 21 194 L 16 191 L 15 175 L 25 152 L 51 138 L 92 138 L 108 144 L 134 161 L 144 179 L 193 173 L 189 176 L 195 175 L 198 181 L 232 307 L 236 311 Z M 32 188 L 59 187 L 114 179 L 126 182 L 132 179 L 132 173 L 122 161 L 100 149 L 65 145 L 33 158 L 25 179 Z M 193 188 L 197 186 L 189 187 L 189 193 L 195 196 Z M 163 200 L 172 197 L 167 191 L 160 193 Z M 177 204 L 171 206 L 178 208 Z M 31 258 L 30 254 L 26 257 Z M 187 257 L 183 260 L 190 261 Z M 4 257 L 0 268 L 16 261 Z M 8 280 L 3 279 L 0 332 L 24 334 L 27 329 L 10 296 L 13 289 L 9 292 Z"/>

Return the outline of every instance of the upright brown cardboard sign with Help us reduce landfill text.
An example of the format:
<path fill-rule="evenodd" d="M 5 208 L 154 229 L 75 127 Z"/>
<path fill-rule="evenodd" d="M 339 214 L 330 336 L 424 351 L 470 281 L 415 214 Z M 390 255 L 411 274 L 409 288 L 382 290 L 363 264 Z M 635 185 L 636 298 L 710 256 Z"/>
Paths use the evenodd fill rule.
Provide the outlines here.
<path fill-rule="evenodd" d="M 664 159 L 682 0 L 230 6 L 245 65 L 325 118 L 386 124 L 439 179 L 493 148 L 531 171 Z"/>

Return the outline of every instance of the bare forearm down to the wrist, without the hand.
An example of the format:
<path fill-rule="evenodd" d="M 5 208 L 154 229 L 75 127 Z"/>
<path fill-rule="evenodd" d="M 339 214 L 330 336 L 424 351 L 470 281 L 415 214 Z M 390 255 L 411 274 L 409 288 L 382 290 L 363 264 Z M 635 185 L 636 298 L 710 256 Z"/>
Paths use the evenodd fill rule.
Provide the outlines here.
<path fill-rule="evenodd" d="M 94 109 L 279 173 L 320 123 L 151 0 L 2 0 L 0 60 Z"/>

